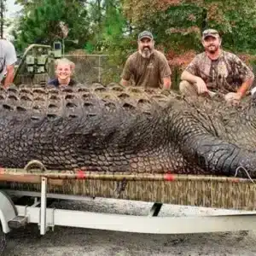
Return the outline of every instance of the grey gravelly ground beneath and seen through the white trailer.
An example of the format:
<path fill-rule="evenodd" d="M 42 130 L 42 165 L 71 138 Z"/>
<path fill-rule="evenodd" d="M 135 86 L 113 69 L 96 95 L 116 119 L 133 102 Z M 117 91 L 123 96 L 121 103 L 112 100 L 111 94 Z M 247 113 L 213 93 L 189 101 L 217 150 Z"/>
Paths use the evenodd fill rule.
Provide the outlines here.
<path fill-rule="evenodd" d="M 119 212 L 146 215 L 152 204 L 118 200 L 60 201 L 53 207 L 86 209 L 95 212 Z M 161 216 L 190 216 L 217 214 L 216 209 L 166 205 Z M 227 211 L 222 211 L 222 213 Z M 55 228 L 45 236 L 38 236 L 38 226 L 31 224 L 9 236 L 4 256 L 25 255 L 256 255 L 256 231 L 192 234 L 148 235 Z"/>

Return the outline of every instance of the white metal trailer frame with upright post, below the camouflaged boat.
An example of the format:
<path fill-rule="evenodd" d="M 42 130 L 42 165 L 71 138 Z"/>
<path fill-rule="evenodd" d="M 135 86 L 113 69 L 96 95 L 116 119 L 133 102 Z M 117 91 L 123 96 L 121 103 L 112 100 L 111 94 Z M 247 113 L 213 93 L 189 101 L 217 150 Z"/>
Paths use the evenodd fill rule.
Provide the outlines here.
<path fill-rule="evenodd" d="M 15 205 L 11 195 L 35 197 L 32 206 Z M 39 198 L 39 201 L 38 201 Z M 148 216 L 84 212 L 48 208 L 47 199 L 83 201 L 83 196 L 47 194 L 47 177 L 41 178 L 41 193 L 29 191 L 0 190 L 0 221 L 3 233 L 26 224 L 38 224 L 40 235 L 55 226 L 68 226 L 97 230 L 115 230 L 151 234 L 189 234 L 254 230 L 256 212 L 228 215 L 160 217 L 161 203 L 154 203 Z"/>

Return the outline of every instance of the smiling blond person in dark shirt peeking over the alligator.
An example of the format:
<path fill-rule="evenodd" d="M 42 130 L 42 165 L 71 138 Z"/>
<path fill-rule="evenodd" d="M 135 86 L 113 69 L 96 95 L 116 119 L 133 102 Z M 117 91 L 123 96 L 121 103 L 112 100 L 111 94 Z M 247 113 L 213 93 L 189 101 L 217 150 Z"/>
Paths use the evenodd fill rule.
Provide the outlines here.
<path fill-rule="evenodd" d="M 55 74 L 56 79 L 49 81 L 49 85 L 54 85 L 55 87 L 66 87 L 74 86 L 77 82 L 71 78 L 75 64 L 66 58 L 59 59 L 55 61 Z"/>

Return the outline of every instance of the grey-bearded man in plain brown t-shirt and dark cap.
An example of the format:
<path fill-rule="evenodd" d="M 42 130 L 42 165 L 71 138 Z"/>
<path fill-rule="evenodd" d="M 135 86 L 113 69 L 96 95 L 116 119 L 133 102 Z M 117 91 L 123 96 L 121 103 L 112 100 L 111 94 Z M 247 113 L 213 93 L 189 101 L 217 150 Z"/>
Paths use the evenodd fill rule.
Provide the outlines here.
<path fill-rule="evenodd" d="M 170 89 L 171 68 L 166 56 L 154 49 L 152 33 L 141 32 L 137 44 L 137 51 L 125 62 L 120 84 L 126 86 L 133 80 L 135 86 Z"/>

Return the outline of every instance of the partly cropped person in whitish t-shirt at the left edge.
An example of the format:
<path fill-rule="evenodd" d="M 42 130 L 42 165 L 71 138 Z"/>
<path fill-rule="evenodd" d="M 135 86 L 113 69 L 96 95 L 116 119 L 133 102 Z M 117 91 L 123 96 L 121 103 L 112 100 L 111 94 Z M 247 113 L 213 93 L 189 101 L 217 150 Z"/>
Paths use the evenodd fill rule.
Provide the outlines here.
<path fill-rule="evenodd" d="M 11 42 L 0 39 L 0 82 L 6 73 L 6 66 L 13 65 L 17 61 L 15 46 Z"/>

